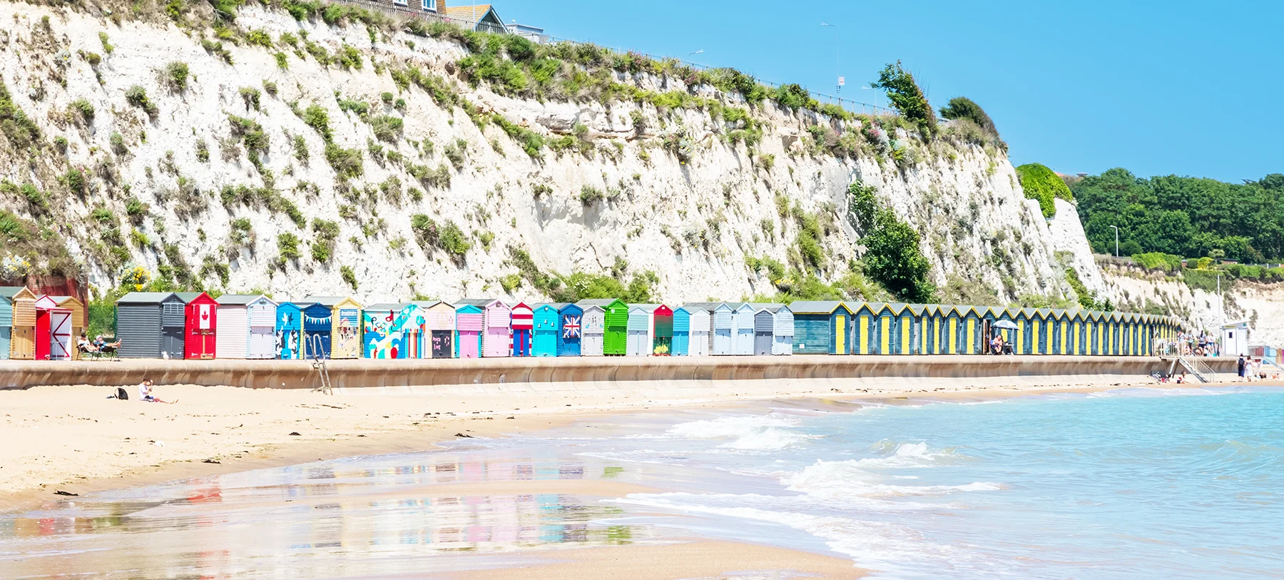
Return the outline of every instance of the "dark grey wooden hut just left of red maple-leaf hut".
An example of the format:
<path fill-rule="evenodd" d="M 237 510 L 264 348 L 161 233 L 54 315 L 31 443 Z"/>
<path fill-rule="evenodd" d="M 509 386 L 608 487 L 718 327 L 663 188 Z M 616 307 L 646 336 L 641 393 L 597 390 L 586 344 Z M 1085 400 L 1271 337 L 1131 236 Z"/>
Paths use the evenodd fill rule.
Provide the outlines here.
<path fill-rule="evenodd" d="M 186 304 L 175 293 L 128 293 L 116 300 L 116 339 L 121 358 L 184 355 Z"/>

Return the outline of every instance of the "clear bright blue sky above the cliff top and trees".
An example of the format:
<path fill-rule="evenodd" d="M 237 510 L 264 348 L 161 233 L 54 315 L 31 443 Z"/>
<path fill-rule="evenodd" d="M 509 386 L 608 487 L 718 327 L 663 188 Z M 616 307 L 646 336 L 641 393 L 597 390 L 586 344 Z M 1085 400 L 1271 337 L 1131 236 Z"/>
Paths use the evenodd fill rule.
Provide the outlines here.
<path fill-rule="evenodd" d="M 1284 172 L 1284 1 L 492 0 L 570 40 L 736 67 L 842 96 L 903 60 L 933 107 L 964 95 L 1013 163 L 1225 181 Z M 458 3 L 464 4 L 464 3 Z M 702 54 L 688 55 L 696 50 Z"/>

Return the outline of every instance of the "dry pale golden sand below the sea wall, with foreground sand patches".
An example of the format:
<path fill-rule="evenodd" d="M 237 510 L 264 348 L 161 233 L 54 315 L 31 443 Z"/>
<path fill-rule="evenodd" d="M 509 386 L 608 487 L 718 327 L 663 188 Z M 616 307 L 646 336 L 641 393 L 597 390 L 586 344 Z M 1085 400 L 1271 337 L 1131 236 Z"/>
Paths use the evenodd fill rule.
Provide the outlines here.
<path fill-rule="evenodd" d="M 1050 391 L 1099 391 L 1157 385 L 1138 380 L 1088 380 L 1066 385 L 968 385 L 854 388 L 820 391 L 788 384 L 693 389 L 620 389 L 546 393 L 514 388 L 502 397 L 395 394 L 347 389 L 334 395 L 306 390 L 158 385 L 175 404 L 109 399 L 103 386 L 45 386 L 0 391 L 0 508 L 50 506 L 55 491 L 89 494 L 177 479 L 231 473 L 321 459 L 433 449 L 437 441 L 497 438 L 550 429 L 611 413 L 660 408 L 733 408 L 755 400 L 859 400 L 898 398 L 1014 397 Z M 131 395 L 136 398 L 135 393 Z M 535 480 L 437 484 L 426 495 L 574 494 L 620 498 L 651 491 L 619 481 Z M 467 556 L 478 558 L 482 556 Z M 851 562 L 831 554 L 710 542 L 541 550 L 511 563 L 525 577 L 724 577 L 732 570 L 777 571 L 779 577 L 855 577 Z M 645 570 L 645 574 L 639 572 Z M 602 576 L 606 571 L 606 576 Z M 774 574 L 774 572 L 773 572 Z M 451 577 L 503 577 L 487 570 Z M 725 576 L 736 577 L 736 576 Z M 776 577 L 776 576 L 770 576 Z"/>

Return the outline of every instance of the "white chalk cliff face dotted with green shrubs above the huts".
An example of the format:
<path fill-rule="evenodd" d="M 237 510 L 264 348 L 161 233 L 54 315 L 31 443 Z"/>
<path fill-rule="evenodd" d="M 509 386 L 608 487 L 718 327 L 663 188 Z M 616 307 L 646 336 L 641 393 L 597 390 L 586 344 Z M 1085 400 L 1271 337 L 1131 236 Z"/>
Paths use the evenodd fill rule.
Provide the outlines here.
<path fill-rule="evenodd" d="M 209 30 L 157 18 L 117 24 L 98 9 L 0 3 L 0 76 L 40 130 L 27 148 L 0 137 L 0 171 L 50 198 L 41 212 L 6 192 L 0 208 L 62 234 L 98 289 L 141 266 L 186 268 L 207 287 L 277 298 L 541 300 L 529 281 L 514 286 L 514 275 L 532 267 L 514 258 L 520 249 L 543 272 L 655 272 L 655 294 L 666 302 L 740 299 L 776 291 L 765 268 L 751 271 L 746 258 L 802 267 L 799 216 L 822 226 L 823 264 L 814 269 L 824 280 L 842 276 L 863 252 L 846 216 L 847 186 L 859 180 L 919 231 L 932 277 L 955 295 L 1067 296 L 1066 267 L 1090 290 L 1106 290 L 1073 208 L 1058 201 L 1058 217 L 1045 221 L 993 146 L 923 142 L 904 130 L 880 146 L 865 135 L 868 121 L 772 100 L 750 109 L 761 135 L 746 144 L 736 132 L 749 122 L 715 118 L 707 107 L 502 96 L 465 82 L 456 63 L 467 50 L 453 41 L 295 21 L 262 6 L 241 8 L 232 26 L 266 32 L 271 49 L 244 40 L 217 46 Z M 295 50 L 284 33 L 306 40 Z M 318 63 L 303 42 L 345 54 L 347 68 Z M 182 87 L 168 68 L 176 62 L 189 71 Z M 440 77 L 487 114 L 569 141 L 532 157 L 499 124 L 475 123 L 416 83 L 398 86 L 393 72 L 407 65 Z M 709 85 L 612 74 L 747 108 L 741 95 Z M 153 113 L 132 87 L 143 87 Z M 309 105 L 326 113 L 329 150 L 307 121 Z M 860 146 L 833 154 L 819 142 L 828 139 L 822 130 L 854 132 Z M 349 169 L 340 178 L 327 154 L 340 168 L 360 159 L 360 176 Z M 59 181 L 68 168 L 85 171 L 82 192 Z M 412 227 L 416 214 L 431 218 L 433 231 L 456 225 L 453 248 L 467 250 L 425 241 Z"/>

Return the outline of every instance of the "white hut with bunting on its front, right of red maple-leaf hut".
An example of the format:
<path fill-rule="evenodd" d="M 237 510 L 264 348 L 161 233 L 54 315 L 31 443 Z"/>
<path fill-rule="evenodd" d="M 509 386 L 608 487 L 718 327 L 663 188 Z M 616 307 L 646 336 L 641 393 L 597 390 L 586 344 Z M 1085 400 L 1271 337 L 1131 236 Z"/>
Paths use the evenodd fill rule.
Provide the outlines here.
<path fill-rule="evenodd" d="M 216 358 L 276 358 L 276 303 L 271 298 L 223 294 L 216 302 Z"/>

